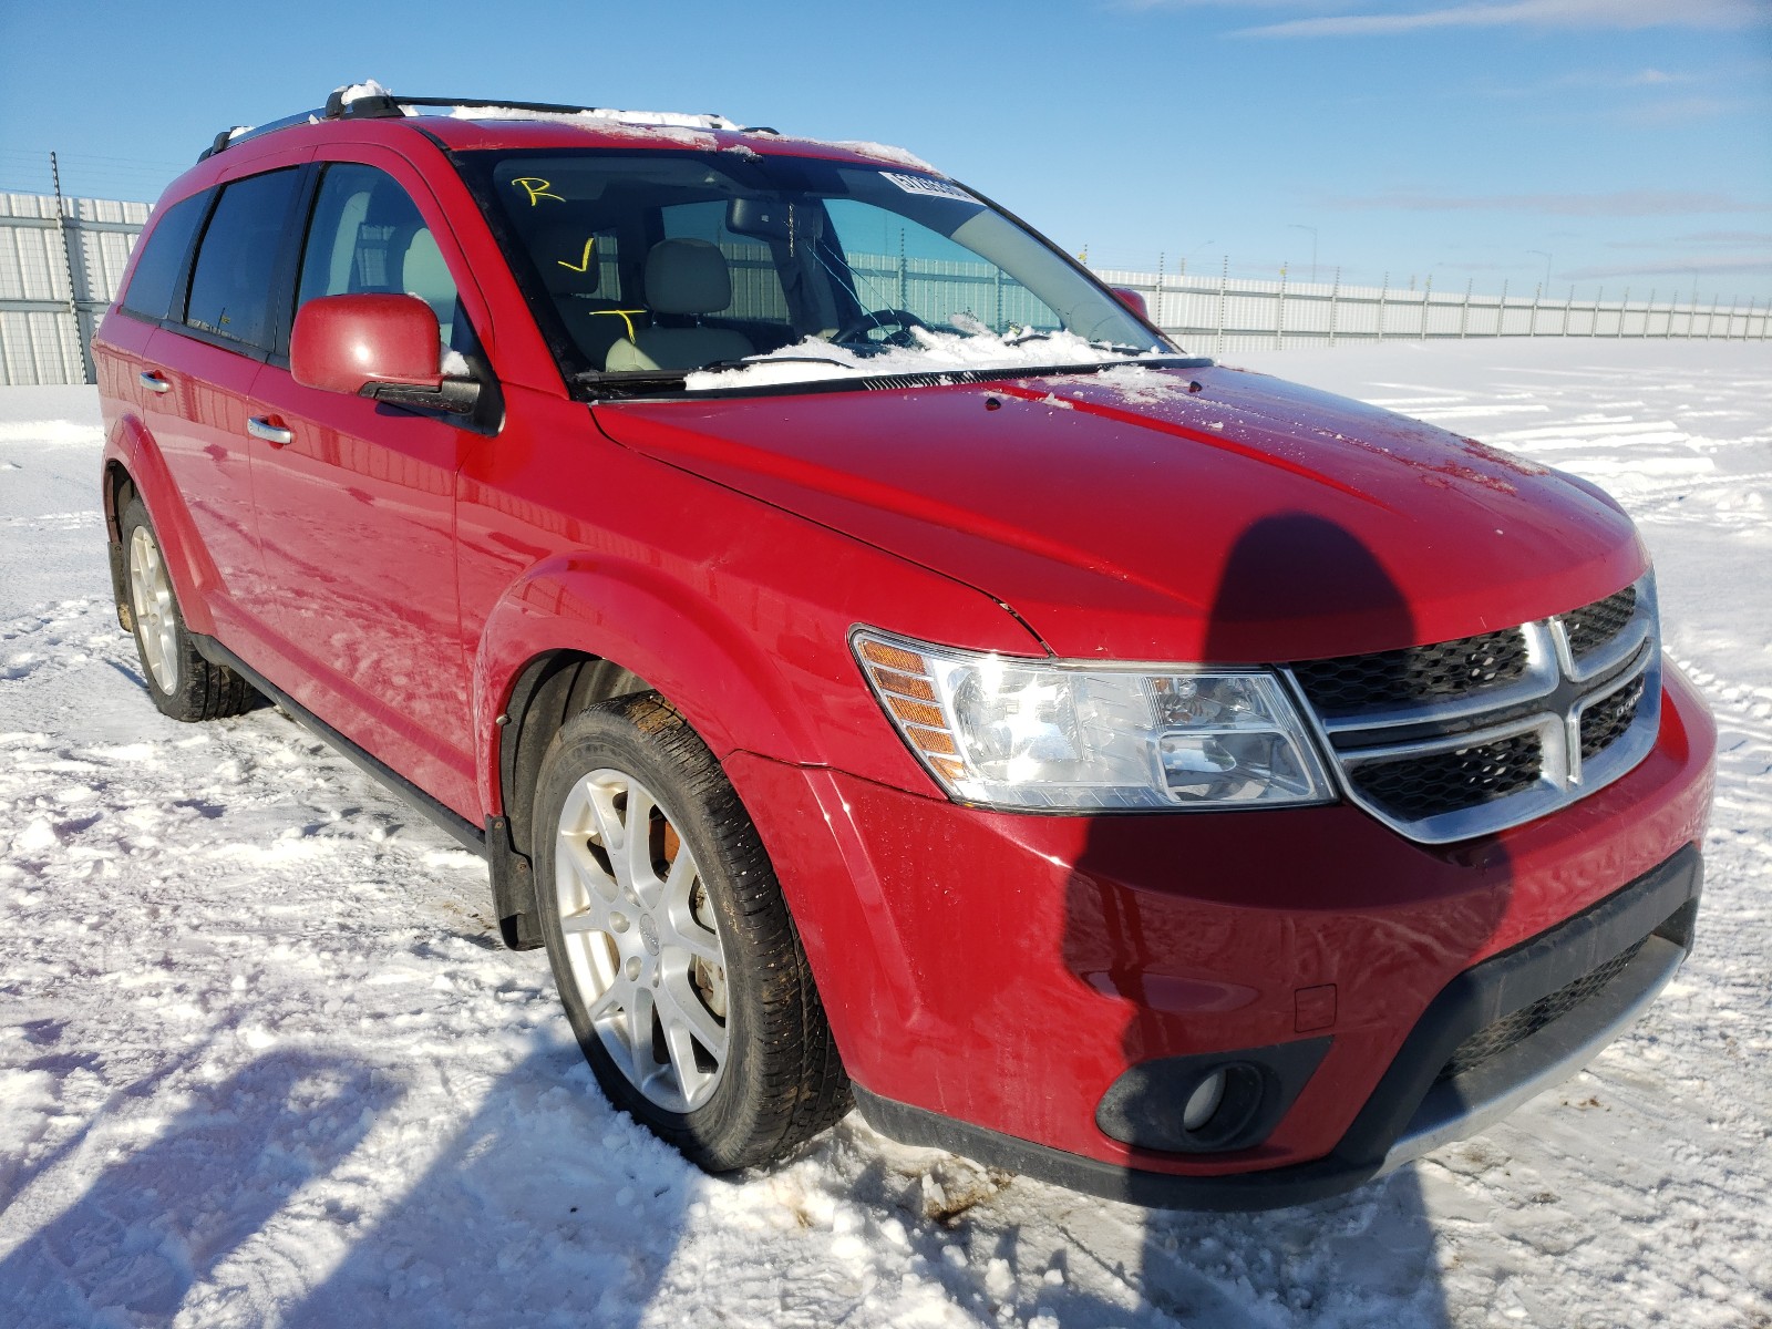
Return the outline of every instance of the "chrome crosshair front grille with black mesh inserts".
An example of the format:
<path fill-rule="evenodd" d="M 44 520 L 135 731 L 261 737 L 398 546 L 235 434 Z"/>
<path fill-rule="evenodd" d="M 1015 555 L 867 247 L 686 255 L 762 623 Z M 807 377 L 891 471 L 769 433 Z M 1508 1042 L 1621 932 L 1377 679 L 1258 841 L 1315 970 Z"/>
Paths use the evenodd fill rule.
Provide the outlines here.
<path fill-rule="evenodd" d="M 1655 746 L 1653 579 L 1519 627 L 1286 672 L 1348 799 L 1423 843 L 1490 835 L 1609 785 Z"/>

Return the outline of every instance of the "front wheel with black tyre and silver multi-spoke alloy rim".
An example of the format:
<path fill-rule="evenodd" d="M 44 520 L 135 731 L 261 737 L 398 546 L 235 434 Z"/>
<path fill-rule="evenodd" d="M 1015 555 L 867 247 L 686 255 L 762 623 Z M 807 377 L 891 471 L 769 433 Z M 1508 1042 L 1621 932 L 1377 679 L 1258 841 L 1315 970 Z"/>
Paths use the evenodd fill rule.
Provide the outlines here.
<path fill-rule="evenodd" d="M 592 705 L 555 735 L 535 882 L 555 983 L 599 1084 L 691 1162 L 771 1162 L 849 1111 L 757 828 L 656 693 Z"/>

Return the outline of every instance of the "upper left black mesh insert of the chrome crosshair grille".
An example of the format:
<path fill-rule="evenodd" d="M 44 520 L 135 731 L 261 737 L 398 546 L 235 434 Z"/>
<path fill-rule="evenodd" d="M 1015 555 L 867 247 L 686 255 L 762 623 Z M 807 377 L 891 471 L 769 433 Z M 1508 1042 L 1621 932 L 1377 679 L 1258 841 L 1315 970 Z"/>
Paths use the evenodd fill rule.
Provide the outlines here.
<path fill-rule="evenodd" d="M 1338 656 L 1292 666 L 1320 716 L 1350 716 L 1462 696 L 1510 682 L 1524 672 L 1526 634 L 1519 627 L 1430 647 Z"/>

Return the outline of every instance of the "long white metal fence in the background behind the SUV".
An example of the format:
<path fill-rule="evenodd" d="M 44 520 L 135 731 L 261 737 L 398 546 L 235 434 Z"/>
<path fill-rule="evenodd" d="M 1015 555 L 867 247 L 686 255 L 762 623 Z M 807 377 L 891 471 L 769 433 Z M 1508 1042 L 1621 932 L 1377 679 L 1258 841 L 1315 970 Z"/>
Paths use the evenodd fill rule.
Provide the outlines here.
<path fill-rule="evenodd" d="M 0 385 L 92 381 L 87 349 L 92 330 L 117 294 L 129 246 L 147 213 L 149 204 L 66 198 L 58 209 L 50 195 L 0 193 Z M 891 259 L 877 262 L 872 276 L 895 276 L 900 305 L 911 299 L 914 308 L 918 291 L 934 298 L 923 289 L 927 284 L 959 282 L 969 287 L 968 298 L 959 301 L 962 307 L 1022 317 L 1015 299 L 1024 292 L 994 282 L 989 268 L 964 273 L 944 264 L 934 273 L 921 271 L 927 264 L 916 260 L 904 269 L 891 269 Z M 1253 282 L 1228 271 L 1216 276 L 1095 271 L 1113 285 L 1143 294 L 1155 323 L 1200 354 L 1391 338 L 1767 340 L 1772 335 L 1768 303 L 1705 305 L 1664 298 L 1657 291 L 1639 299 L 1630 291 L 1618 299 L 1607 299 L 1604 291 L 1591 298 L 1570 292 L 1565 299 L 1549 299 L 1538 292 L 1510 296 L 1506 287 L 1494 296 L 1469 285 L 1464 291 L 1402 291 L 1340 282 Z"/>

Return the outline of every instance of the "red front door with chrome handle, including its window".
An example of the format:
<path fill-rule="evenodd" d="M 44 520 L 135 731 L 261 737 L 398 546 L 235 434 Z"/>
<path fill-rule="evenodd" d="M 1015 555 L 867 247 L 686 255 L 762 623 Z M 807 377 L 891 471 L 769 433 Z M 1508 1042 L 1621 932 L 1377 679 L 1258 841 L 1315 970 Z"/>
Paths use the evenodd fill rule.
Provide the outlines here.
<path fill-rule="evenodd" d="M 319 163 L 296 307 L 406 292 L 445 342 L 471 346 L 454 237 L 404 158 Z M 266 670 L 301 705 L 455 812 L 477 819 L 468 654 L 455 595 L 455 475 L 480 438 L 448 416 L 305 388 L 287 331 L 259 377 L 278 431 L 252 447 Z"/>

